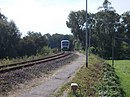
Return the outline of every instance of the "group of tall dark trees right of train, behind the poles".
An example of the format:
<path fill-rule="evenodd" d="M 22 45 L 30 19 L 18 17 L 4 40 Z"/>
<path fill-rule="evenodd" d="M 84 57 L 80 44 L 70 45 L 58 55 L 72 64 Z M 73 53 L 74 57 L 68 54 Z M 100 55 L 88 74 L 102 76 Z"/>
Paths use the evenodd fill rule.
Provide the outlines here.
<path fill-rule="evenodd" d="M 97 13 L 88 13 L 87 23 L 91 52 L 111 59 L 113 47 L 115 59 L 130 59 L 130 11 L 119 15 L 104 0 Z M 86 11 L 71 11 L 66 25 L 85 49 Z"/>

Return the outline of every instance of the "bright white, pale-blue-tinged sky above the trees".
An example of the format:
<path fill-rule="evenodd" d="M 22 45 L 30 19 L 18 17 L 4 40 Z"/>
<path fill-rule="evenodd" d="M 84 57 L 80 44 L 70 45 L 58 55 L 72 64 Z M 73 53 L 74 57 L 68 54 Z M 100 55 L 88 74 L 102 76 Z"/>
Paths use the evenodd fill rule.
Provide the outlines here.
<path fill-rule="evenodd" d="M 87 0 L 88 12 L 96 13 L 104 0 Z M 129 0 L 109 0 L 117 13 L 130 11 Z M 0 0 L 1 13 L 13 20 L 22 36 L 28 31 L 71 34 L 66 26 L 70 11 L 86 9 L 86 0 Z"/>

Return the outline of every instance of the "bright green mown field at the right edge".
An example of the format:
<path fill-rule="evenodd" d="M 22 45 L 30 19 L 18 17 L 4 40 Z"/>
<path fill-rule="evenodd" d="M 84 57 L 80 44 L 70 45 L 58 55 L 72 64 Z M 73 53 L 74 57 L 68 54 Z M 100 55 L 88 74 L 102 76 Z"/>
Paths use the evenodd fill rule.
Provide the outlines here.
<path fill-rule="evenodd" d="M 111 64 L 110 60 L 107 62 Z M 126 93 L 125 97 L 130 97 L 130 60 L 116 60 L 114 68 Z"/>

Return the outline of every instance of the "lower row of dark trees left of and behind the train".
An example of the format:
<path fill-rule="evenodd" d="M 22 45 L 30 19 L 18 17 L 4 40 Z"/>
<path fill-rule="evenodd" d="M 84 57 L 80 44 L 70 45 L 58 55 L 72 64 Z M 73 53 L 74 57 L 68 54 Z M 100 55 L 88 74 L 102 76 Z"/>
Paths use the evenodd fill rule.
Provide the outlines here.
<path fill-rule="evenodd" d="M 69 39 L 73 41 L 72 35 L 44 34 L 41 32 L 28 31 L 27 35 L 21 37 L 21 32 L 13 20 L 0 12 L 0 58 L 15 58 L 46 53 L 47 49 L 60 50 L 60 41 Z"/>

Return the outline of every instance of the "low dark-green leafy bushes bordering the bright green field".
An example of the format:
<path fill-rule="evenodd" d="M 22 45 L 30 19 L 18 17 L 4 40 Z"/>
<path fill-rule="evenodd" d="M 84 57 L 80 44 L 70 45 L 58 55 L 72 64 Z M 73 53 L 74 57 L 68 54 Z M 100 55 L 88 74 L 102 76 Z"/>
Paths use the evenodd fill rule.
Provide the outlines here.
<path fill-rule="evenodd" d="M 100 96 L 124 97 L 125 92 L 120 87 L 120 81 L 115 74 L 114 68 L 109 64 L 104 64 L 102 82 L 98 86 Z"/>

